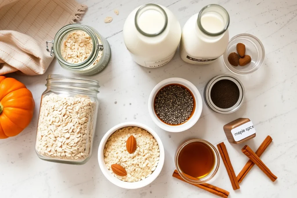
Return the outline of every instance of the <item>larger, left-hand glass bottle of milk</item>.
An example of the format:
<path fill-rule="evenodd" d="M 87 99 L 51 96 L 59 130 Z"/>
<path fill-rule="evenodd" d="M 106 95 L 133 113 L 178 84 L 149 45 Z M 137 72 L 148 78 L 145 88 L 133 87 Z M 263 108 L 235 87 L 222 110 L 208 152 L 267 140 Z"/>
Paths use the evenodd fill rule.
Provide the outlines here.
<path fill-rule="evenodd" d="M 129 14 L 123 34 L 133 60 L 155 68 L 173 58 L 181 39 L 181 26 L 168 8 L 145 4 Z"/>

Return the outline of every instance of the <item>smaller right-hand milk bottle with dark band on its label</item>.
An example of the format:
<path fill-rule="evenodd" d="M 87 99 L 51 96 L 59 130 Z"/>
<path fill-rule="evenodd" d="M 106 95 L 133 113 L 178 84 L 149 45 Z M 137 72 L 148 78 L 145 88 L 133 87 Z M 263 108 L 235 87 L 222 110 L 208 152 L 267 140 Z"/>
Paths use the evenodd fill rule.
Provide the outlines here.
<path fill-rule="evenodd" d="M 187 20 L 181 34 L 181 59 L 191 64 L 209 64 L 222 56 L 229 40 L 229 14 L 211 4 Z"/>

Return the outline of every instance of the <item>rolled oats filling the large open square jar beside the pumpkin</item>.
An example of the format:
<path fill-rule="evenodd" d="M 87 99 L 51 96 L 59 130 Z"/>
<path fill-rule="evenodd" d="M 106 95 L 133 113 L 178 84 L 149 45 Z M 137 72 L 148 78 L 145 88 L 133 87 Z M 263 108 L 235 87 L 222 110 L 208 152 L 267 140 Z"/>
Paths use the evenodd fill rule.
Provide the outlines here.
<path fill-rule="evenodd" d="M 95 105 L 83 95 L 44 96 L 37 126 L 38 153 L 53 159 L 86 159 L 93 141 Z"/>

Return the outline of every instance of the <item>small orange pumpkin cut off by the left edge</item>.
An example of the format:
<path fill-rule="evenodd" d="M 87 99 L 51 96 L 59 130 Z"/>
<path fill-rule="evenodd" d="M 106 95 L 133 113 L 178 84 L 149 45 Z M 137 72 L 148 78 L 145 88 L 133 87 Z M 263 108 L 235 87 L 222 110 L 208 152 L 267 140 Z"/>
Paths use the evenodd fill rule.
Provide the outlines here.
<path fill-rule="evenodd" d="M 33 112 L 31 91 L 14 78 L 0 76 L 0 139 L 22 132 L 31 122 Z"/>

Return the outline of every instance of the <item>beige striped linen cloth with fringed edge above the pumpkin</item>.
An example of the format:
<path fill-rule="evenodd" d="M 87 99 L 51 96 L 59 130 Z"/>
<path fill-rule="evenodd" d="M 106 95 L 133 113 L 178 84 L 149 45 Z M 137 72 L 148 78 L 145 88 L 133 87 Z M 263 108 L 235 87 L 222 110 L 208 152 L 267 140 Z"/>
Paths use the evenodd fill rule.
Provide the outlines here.
<path fill-rule="evenodd" d="M 75 0 L 0 0 L 0 75 L 43 74 L 53 60 L 45 41 L 85 10 Z"/>

